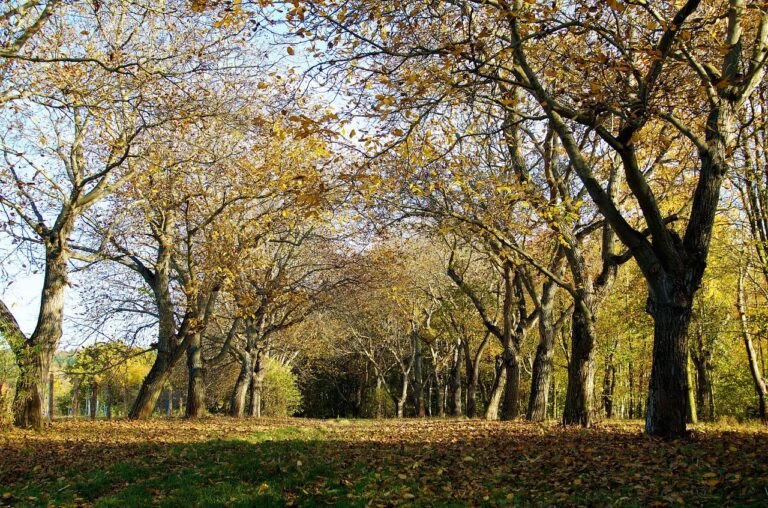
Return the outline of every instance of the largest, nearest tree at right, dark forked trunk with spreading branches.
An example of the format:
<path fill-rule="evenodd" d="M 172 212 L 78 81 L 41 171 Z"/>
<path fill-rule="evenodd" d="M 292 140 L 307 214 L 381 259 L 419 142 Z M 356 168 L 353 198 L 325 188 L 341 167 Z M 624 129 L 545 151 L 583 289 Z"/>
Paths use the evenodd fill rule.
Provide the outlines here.
<path fill-rule="evenodd" d="M 316 38 L 347 43 L 335 45 L 343 49 L 329 60 L 355 62 L 355 85 L 372 81 L 386 90 L 378 92 L 376 109 L 397 139 L 385 139 L 380 143 L 385 148 L 402 143 L 438 106 L 483 97 L 494 86 L 522 88 L 541 106 L 573 170 L 650 287 L 656 339 L 647 432 L 684 435 L 693 295 L 706 266 L 722 179 L 732 169 L 735 115 L 764 74 L 768 14 L 743 0 L 724 7 L 690 0 L 679 8 L 616 2 L 606 9 L 589 1 L 552 7 L 522 0 L 404 2 L 398 9 L 365 2 L 351 9 L 333 6 L 309 2 L 301 18 L 311 20 Z M 702 20 L 721 17 L 726 25 L 703 28 Z M 371 30 L 373 25 L 386 29 Z M 498 30 L 488 30 L 491 25 Z M 424 75 L 425 69 L 433 77 L 429 83 L 411 78 Z M 691 76 L 696 85 L 681 86 Z M 690 89 L 696 93 L 687 93 Z M 513 97 L 501 100 L 520 112 Z M 691 113 L 699 110 L 703 122 Z M 691 179 L 694 190 L 682 235 L 665 221 L 638 159 L 642 131 L 660 123 L 677 129 L 697 152 L 699 167 Z M 598 153 L 620 158 L 648 235 L 630 224 L 630 215 L 601 184 L 576 141 L 579 125 L 597 134 Z"/>

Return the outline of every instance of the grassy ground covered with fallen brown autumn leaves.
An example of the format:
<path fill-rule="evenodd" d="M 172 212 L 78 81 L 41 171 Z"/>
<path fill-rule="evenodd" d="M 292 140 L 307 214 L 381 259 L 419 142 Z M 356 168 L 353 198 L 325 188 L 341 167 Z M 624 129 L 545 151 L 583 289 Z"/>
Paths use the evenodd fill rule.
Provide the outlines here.
<path fill-rule="evenodd" d="M 10 506 L 766 506 L 768 429 L 211 417 L 0 432 Z"/>

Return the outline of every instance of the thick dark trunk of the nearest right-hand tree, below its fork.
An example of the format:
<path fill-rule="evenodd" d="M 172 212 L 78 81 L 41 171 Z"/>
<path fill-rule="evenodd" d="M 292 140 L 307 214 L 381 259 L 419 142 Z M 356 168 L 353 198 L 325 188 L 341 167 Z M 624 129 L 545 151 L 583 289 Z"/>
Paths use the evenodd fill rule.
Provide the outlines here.
<path fill-rule="evenodd" d="M 654 307 L 653 363 L 645 430 L 651 436 L 674 439 L 686 433 L 691 307 L 659 302 Z"/>

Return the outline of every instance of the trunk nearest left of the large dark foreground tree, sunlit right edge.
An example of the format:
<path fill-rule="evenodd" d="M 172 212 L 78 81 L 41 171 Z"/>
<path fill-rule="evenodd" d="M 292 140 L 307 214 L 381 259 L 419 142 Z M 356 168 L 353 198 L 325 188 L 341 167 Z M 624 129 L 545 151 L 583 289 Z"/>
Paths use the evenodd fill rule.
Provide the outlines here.
<path fill-rule="evenodd" d="M 571 362 L 568 365 L 563 424 L 590 427 L 595 383 L 594 331 L 590 317 L 578 303 L 574 306 L 571 319 Z"/>

